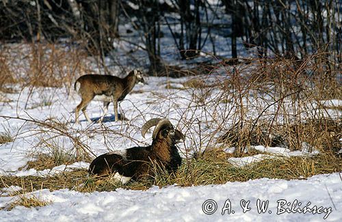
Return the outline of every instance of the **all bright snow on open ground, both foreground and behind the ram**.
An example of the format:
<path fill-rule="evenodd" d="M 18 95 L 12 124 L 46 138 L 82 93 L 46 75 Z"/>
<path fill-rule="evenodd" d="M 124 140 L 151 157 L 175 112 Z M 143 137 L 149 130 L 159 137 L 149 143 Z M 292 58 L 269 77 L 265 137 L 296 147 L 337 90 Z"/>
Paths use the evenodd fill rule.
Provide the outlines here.
<path fill-rule="evenodd" d="M 212 98 L 220 94 L 219 90 L 212 91 L 204 101 L 196 101 L 194 90 L 200 89 L 183 89 L 183 83 L 187 80 L 186 78 L 149 77 L 148 85 L 136 85 L 126 100 L 121 102 L 121 108 L 129 121 L 105 121 L 103 125 L 88 124 L 83 115 L 80 118 L 80 125 L 73 122 L 75 119 L 73 109 L 79 102 L 79 96 L 73 91 L 67 95 L 64 89 L 35 89 L 28 100 L 28 109 L 24 107 L 29 89 L 23 89 L 21 93 L 6 94 L 10 101 L 1 103 L 0 113 L 14 118 L 1 117 L 0 130 L 14 136 L 14 141 L 0 145 L 0 174 L 47 176 L 70 167 L 88 167 L 88 163 L 79 162 L 71 166 L 61 165 L 52 170 L 26 169 L 27 161 L 34 158 L 32 154 L 51 152 L 46 143 L 41 143 L 42 140 L 50 141 L 56 147 L 75 154 L 74 145 L 69 137 L 61 135 L 56 130 L 39 126 L 35 122 L 18 120 L 15 117 L 41 122 L 55 120 L 55 122 L 63 123 L 66 126 L 66 132 L 77 137 L 95 155 L 103 154 L 108 150 L 120 150 L 133 145 L 150 143 L 150 134 L 146 136 L 149 139 L 144 139 L 140 135 L 142 124 L 150 117 L 168 117 L 187 135 L 186 142 L 179 147 L 183 153 L 190 147 L 199 147 L 198 132 L 202 133 L 201 145 L 210 145 L 208 143 L 211 137 L 207 136 L 213 133 L 212 129 L 215 126 L 226 121 L 228 115 L 220 112 L 230 105 L 223 102 L 220 105 L 211 106 L 210 102 Z M 206 79 L 206 81 L 211 80 Z M 170 85 L 171 89 L 167 89 Z M 198 106 L 198 102 L 207 106 Z M 255 102 L 259 104 L 257 100 Z M 324 104 L 333 106 L 341 104 L 340 102 L 340 100 L 324 101 Z M 88 107 L 90 116 L 95 119 L 100 117 L 101 106 L 101 102 L 91 102 Z M 110 108 L 107 117 L 112 120 L 112 107 Z M 270 110 L 272 112 L 272 107 Z M 335 109 L 331 112 L 330 114 L 334 116 L 341 115 L 341 112 Z M 250 116 L 257 114 L 252 111 Z M 204 118 L 206 121 L 199 121 Z M 110 133 L 106 133 L 107 131 Z M 216 134 L 220 135 L 221 132 L 216 132 Z M 263 146 L 254 148 L 277 156 L 307 154 L 305 150 L 289 152 L 286 148 Z M 231 158 L 227 161 L 236 165 L 245 165 L 257 161 L 258 157 L 263 156 Z M 20 167 L 24 168 L 19 171 Z M 10 191 L 1 191 L 0 208 L 15 200 L 16 197 L 6 195 L 8 192 Z M 340 212 L 342 180 L 339 174 L 313 176 L 308 180 L 287 181 L 263 178 L 248 182 L 193 187 L 179 187 L 174 184 L 162 189 L 155 186 L 147 191 L 118 189 L 112 192 L 79 193 L 64 189 L 53 192 L 35 191 L 27 195 L 35 195 L 50 204 L 37 208 L 16 206 L 10 211 L 0 210 L 0 221 L 226 221 L 228 219 L 234 221 L 322 221 L 324 217 L 327 221 L 342 220 Z M 216 210 L 213 202 L 206 202 L 203 205 L 207 199 L 215 201 Z M 269 205 L 266 212 L 259 213 L 257 202 L 267 200 Z M 289 206 L 282 206 L 284 203 L 282 200 L 289 203 Z M 294 206 L 296 200 L 298 204 Z M 246 206 L 246 203 L 249 205 Z M 227 208 L 222 215 L 222 208 L 225 204 L 227 207 L 231 204 L 231 209 Z M 250 210 L 243 212 L 241 204 L 246 210 L 249 208 Z M 305 206 L 309 212 L 304 214 Z M 205 214 L 203 209 L 215 212 Z"/>

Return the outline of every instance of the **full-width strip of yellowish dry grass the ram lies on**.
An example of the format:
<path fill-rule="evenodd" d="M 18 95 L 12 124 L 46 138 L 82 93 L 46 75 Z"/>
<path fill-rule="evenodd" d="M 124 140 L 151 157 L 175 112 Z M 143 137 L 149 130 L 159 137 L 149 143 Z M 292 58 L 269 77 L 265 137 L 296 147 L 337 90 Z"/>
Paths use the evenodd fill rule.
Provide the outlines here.
<path fill-rule="evenodd" d="M 226 182 L 244 182 L 258 178 L 278 178 L 284 180 L 305 179 L 316 174 L 331 174 L 342 169 L 342 159 L 332 154 L 319 154 L 314 157 L 268 158 L 258 163 L 236 167 L 227 162 L 226 156 L 206 156 L 183 163 L 175 175 L 168 174 L 161 167 L 153 167 L 155 176 L 140 181 L 120 184 L 111 177 L 89 177 L 85 169 L 65 171 L 48 176 L 0 176 L 1 186 L 10 185 L 40 189 L 72 189 L 80 192 L 114 191 L 124 189 L 145 190 L 152 185 L 198 186 L 224 184 Z M 24 184 L 24 185 L 23 185 Z M 29 190 L 25 190 L 27 192 Z"/>

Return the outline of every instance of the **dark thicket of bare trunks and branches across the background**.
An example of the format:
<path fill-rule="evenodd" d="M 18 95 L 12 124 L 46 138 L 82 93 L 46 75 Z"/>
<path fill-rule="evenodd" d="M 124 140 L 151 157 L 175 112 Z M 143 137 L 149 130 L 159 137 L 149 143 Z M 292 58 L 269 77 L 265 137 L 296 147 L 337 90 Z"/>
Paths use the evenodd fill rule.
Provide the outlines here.
<path fill-rule="evenodd" d="M 220 31 L 231 38 L 233 58 L 240 41 L 246 48 L 256 46 L 259 57 L 303 59 L 324 53 L 331 69 L 342 61 L 341 10 L 339 0 L 221 0 L 216 5 L 206 0 L 3 0 L 0 40 L 68 38 L 103 59 L 120 38 L 119 23 L 131 23 L 153 73 L 163 68 L 161 26 L 168 27 L 181 59 L 196 57 L 206 44 L 215 55 L 212 35 Z M 228 19 L 220 20 L 222 12 Z"/>

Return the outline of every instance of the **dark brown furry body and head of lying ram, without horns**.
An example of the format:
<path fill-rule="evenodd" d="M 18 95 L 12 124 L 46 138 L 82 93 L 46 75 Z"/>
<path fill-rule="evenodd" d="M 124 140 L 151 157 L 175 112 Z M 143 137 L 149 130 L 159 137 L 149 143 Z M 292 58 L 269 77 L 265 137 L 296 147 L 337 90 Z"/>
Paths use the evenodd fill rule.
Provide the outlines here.
<path fill-rule="evenodd" d="M 129 148 L 124 157 L 114 153 L 96 157 L 90 164 L 89 173 L 105 176 L 118 172 L 122 176 L 138 180 L 151 174 L 151 161 L 163 165 L 169 172 L 176 171 L 181 165 L 181 156 L 175 144 L 184 138 L 179 130 L 166 126 L 159 130 L 152 145 Z"/>

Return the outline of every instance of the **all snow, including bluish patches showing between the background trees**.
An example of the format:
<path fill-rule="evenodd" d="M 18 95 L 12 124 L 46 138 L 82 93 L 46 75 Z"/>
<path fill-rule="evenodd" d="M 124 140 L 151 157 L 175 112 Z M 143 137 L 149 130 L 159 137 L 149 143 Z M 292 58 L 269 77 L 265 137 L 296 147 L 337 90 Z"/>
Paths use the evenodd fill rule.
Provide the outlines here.
<path fill-rule="evenodd" d="M 170 1 L 166 1 L 170 4 Z M 208 1 L 211 5 L 217 5 L 217 0 Z M 31 1 L 31 3 L 35 3 Z M 132 8 L 137 7 L 131 1 L 128 1 Z M 220 10 L 224 8 L 218 5 Z M 167 15 L 166 15 L 167 16 Z M 133 17 L 132 20 L 136 20 Z M 214 23 L 218 20 L 230 21 L 226 15 L 223 18 L 214 18 Z M 166 25 L 162 25 L 163 30 Z M 119 30 L 125 32 L 126 29 L 133 30 L 130 23 L 121 25 Z M 179 31 L 179 30 L 176 30 Z M 205 32 L 205 30 L 203 30 Z M 226 33 L 225 33 L 226 34 Z M 115 59 L 118 64 L 123 64 L 127 69 L 145 67 L 148 64 L 146 52 L 140 50 L 144 47 L 142 40 L 137 40 L 135 33 L 125 36 L 125 40 L 114 40 Z M 163 46 L 162 59 L 169 65 L 185 66 L 194 61 L 205 61 L 213 59 L 211 55 L 212 46 L 206 44 L 202 48 L 201 57 L 192 61 L 179 61 L 174 40 L 168 31 L 164 31 L 165 38 L 161 40 Z M 202 38 L 205 35 L 202 35 Z M 130 39 L 132 38 L 132 39 Z M 231 40 L 212 31 L 212 38 L 216 45 L 217 55 L 231 57 Z M 135 44 L 129 43 L 129 41 Z M 253 50 L 247 50 L 242 46 L 241 41 L 237 42 L 239 53 L 244 57 Z M 228 46 L 228 49 L 227 49 Z M 25 50 L 21 48 L 21 51 Z M 27 50 L 27 48 L 26 48 Z M 127 57 L 126 53 L 133 51 L 135 60 Z M 124 52 L 124 53 L 122 53 Z M 209 52 L 209 53 L 208 53 Z M 121 54 L 120 54 L 121 53 Z M 22 53 L 27 55 L 29 53 Z M 132 53 L 133 54 L 133 53 Z M 16 56 L 13 56 L 16 57 Z M 23 67 L 29 67 L 25 60 L 17 57 L 18 63 L 23 63 Z M 110 62 L 110 61 L 107 61 Z M 248 65 L 250 66 L 250 65 Z M 202 80 L 211 85 L 213 83 L 222 83 L 229 72 L 227 67 L 218 68 L 209 77 L 201 77 Z M 250 67 L 244 68 L 247 70 Z M 94 70 L 101 72 L 98 68 Z M 23 72 L 25 70 L 18 70 Z M 111 68 L 111 73 L 122 75 L 118 67 Z M 224 74 L 222 74 L 224 73 Z M 209 90 L 193 89 L 185 87 L 184 83 L 191 78 L 172 79 L 166 77 L 148 77 L 148 85 L 135 85 L 133 92 L 120 103 L 121 111 L 129 119 L 127 122 L 114 122 L 112 105 L 109 107 L 109 114 L 105 117 L 103 124 L 88 124 L 83 115 L 80 116 L 81 123 L 75 124 L 75 113 L 73 110 L 79 104 L 80 98 L 76 92 L 71 90 L 70 94 L 66 89 L 57 89 L 49 87 L 35 87 L 32 93 L 29 87 L 23 89 L 17 85 L 11 85 L 17 92 L 13 94 L 1 94 L 0 115 L 0 133 L 9 132 L 14 141 L 0 144 L 0 175 L 5 176 L 51 176 L 60 174 L 63 171 L 73 169 L 88 169 L 89 163 L 79 161 L 71 165 L 59 165 L 53 169 L 27 169 L 28 161 L 33 159 L 32 154 L 51 153 L 63 151 L 75 154 L 75 141 L 67 137 L 58 128 L 50 128 L 37 124 L 51 122 L 61 123 L 66 127 L 63 131 L 79 141 L 91 150 L 92 157 L 105 152 L 120 152 L 125 148 L 136 145 L 146 145 L 151 142 L 151 132 L 148 132 L 146 139 L 140 134 L 141 126 L 152 117 L 168 117 L 171 122 L 187 136 L 185 143 L 179 145 L 182 154 L 199 150 L 212 145 L 213 138 L 219 137 L 221 132 L 215 132 L 217 126 L 231 126 L 231 117 L 234 115 L 236 107 L 233 96 L 227 97 L 229 102 L 217 104 L 215 98 L 220 97 L 220 89 Z M 272 86 L 269 86 L 270 89 Z M 274 102 L 273 97 L 269 95 L 260 95 L 261 98 L 243 98 L 244 105 L 254 107 L 267 107 Z M 342 100 L 322 100 L 321 105 L 326 107 L 339 107 Z M 285 103 L 287 98 L 285 98 Z M 289 101 L 290 104 L 291 101 Z M 27 104 L 26 104 L 27 103 Z M 202 105 L 206 105 L 202 106 Z M 27 107 L 27 109 L 25 109 Z M 313 109 L 319 109 L 320 106 L 313 106 Z M 103 113 L 102 102 L 91 102 L 88 106 L 88 113 L 93 120 Z M 262 110 L 261 109 L 261 110 Z M 291 108 L 289 108 L 291 109 Z M 276 105 L 270 106 L 260 118 L 270 120 L 270 116 L 277 110 Z M 291 110 L 290 110 L 291 111 Z M 260 110 L 250 109 L 246 114 L 251 120 L 258 117 Z M 307 113 L 303 113 L 306 115 Z M 310 113 L 308 113 L 309 115 Z M 341 117 L 342 112 L 339 109 L 328 109 L 324 115 L 330 117 Z M 16 119 L 20 117 L 21 119 Z M 304 116 L 305 117 L 305 116 Z M 205 121 L 204 121 L 205 120 Z M 275 120 L 277 121 L 277 120 Z M 281 121 L 281 116 L 280 116 Z M 57 127 L 57 126 L 56 126 Z M 198 135 L 201 133 L 201 139 Z M 45 143 L 42 143 L 45 141 Z M 200 142 L 199 142 L 200 141 Z M 342 138 L 340 139 L 342 141 Z M 50 146 L 49 146 L 50 145 Z M 51 148 L 52 145 L 52 148 Z M 228 158 L 227 161 L 238 167 L 261 161 L 263 158 L 280 158 L 282 156 L 303 156 L 317 154 L 317 150 L 308 152 L 308 144 L 302 144 L 302 151 L 291 152 L 287 148 L 269 148 L 262 145 L 254 146 L 255 150 L 263 152 L 254 156 L 243 158 Z M 226 152 L 232 153 L 234 148 L 225 148 Z M 342 152 L 342 150 L 340 151 Z M 183 155 L 183 157 L 185 157 Z M 22 168 L 23 167 L 23 168 Z M 22 168 L 22 169 L 21 169 Z M 21 170 L 19 170 L 21 169 Z M 20 193 L 21 187 L 9 186 L 0 191 L 0 208 L 8 206 L 14 202 L 18 196 L 12 197 L 14 193 Z M 0 221 L 342 221 L 342 214 L 339 212 L 342 208 L 342 180 L 339 173 L 330 175 L 317 175 L 307 180 L 275 180 L 262 178 L 259 180 L 250 180 L 247 182 L 227 182 L 226 184 L 211 184 L 207 186 L 180 187 L 172 184 L 168 187 L 159 188 L 153 186 L 147 191 L 133 191 L 117 189 L 111 192 L 79 193 L 68 189 L 57 191 L 41 190 L 27 193 L 25 195 L 38 197 L 46 202 L 47 206 L 36 208 L 25 208 L 16 206 L 13 210 L 0 210 Z M 210 206 L 202 206 L 208 199 L 213 199 L 217 203 L 217 210 L 213 214 L 205 214 L 202 207 L 210 210 Z M 269 201 L 271 210 L 265 213 L 259 213 L 257 210 L 257 201 Z M 332 210 L 330 214 L 324 212 L 321 214 L 306 214 L 300 212 L 285 212 L 276 214 L 277 201 L 285 199 L 289 203 L 302 203 L 302 207 L 322 206 L 325 210 Z M 250 201 L 250 211 L 242 212 L 240 203 Z M 308 203 L 311 204 L 308 204 Z M 210 203 L 210 202 L 207 202 Z M 225 204 L 231 203 L 231 214 L 228 210 L 222 215 L 222 208 Z M 291 204 L 290 204 L 291 205 Z M 298 207 L 296 207 L 298 208 Z"/>

